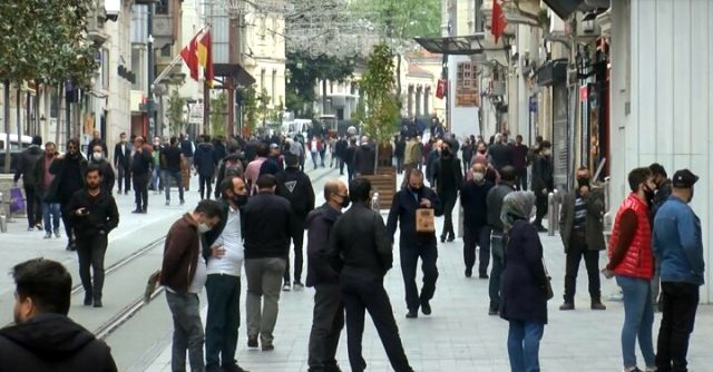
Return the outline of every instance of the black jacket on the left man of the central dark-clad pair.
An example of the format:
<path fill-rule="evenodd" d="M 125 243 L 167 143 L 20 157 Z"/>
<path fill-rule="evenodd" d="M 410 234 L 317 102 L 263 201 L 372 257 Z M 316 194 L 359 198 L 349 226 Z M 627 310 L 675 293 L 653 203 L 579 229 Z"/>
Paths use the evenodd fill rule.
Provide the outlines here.
<path fill-rule="evenodd" d="M 326 203 L 307 215 L 307 281 L 306 286 L 339 284 L 335 262 L 329 258 L 330 235 L 342 215 Z"/>

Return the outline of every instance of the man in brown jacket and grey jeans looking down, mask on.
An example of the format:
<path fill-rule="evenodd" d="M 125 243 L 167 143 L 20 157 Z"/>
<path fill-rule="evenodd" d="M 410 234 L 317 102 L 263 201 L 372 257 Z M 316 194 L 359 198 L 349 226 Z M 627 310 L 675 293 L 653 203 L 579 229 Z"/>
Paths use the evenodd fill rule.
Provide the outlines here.
<path fill-rule="evenodd" d="M 166 302 L 174 321 L 172 371 L 186 370 L 186 349 L 192 371 L 203 371 L 203 323 L 198 295 L 207 280 L 206 260 L 202 257 L 203 234 L 223 218 L 223 207 L 214 200 L 201 200 L 193 213 L 176 221 L 164 245 L 159 283 L 166 287 Z"/>

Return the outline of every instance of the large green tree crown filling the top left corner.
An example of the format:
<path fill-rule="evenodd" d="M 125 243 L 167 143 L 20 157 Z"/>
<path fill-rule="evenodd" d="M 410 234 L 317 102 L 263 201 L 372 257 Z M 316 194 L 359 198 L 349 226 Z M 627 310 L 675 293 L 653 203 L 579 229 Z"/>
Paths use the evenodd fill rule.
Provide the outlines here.
<path fill-rule="evenodd" d="M 92 0 L 0 1 L 0 79 L 86 87 L 98 69 L 87 39 Z"/>

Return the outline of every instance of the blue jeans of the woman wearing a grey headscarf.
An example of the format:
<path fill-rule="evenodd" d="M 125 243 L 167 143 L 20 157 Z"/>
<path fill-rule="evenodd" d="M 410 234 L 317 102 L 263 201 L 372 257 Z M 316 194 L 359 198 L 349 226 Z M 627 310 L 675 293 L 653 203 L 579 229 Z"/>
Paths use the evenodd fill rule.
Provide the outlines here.
<path fill-rule="evenodd" d="M 539 341 L 543 333 L 544 323 L 510 321 L 508 355 L 512 372 L 539 372 Z"/>

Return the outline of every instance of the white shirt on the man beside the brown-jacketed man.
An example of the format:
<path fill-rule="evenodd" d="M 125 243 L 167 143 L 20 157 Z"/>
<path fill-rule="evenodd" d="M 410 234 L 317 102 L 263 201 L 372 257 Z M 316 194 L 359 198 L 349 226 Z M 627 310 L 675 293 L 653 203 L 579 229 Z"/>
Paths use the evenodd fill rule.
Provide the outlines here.
<path fill-rule="evenodd" d="M 232 206 L 227 213 L 227 223 L 221 236 L 215 239 L 212 247 L 223 246 L 225 255 L 223 257 L 208 258 L 208 274 L 225 274 L 241 276 L 243 267 L 243 236 L 241 233 L 241 213 Z"/>

